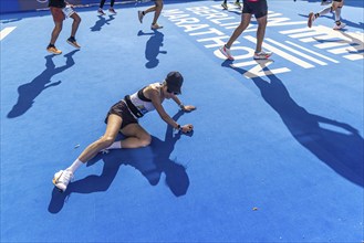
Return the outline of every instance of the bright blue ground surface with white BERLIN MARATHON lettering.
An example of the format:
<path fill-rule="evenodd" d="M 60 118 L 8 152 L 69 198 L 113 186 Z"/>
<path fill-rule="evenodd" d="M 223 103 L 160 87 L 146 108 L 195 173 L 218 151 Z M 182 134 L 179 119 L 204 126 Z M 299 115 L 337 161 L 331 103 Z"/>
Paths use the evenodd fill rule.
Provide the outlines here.
<path fill-rule="evenodd" d="M 306 27 L 320 1 L 270 0 L 263 47 L 257 21 L 219 47 L 240 22 L 221 1 L 165 1 L 100 17 L 77 8 L 81 50 L 45 51 L 49 11 L 1 15 L 1 242 L 361 242 L 363 236 L 363 4 L 346 0 Z M 103 135 L 108 108 L 169 71 L 185 83 L 190 135 L 158 116 L 141 124 L 152 144 L 100 154 L 64 193 L 51 180 Z"/>

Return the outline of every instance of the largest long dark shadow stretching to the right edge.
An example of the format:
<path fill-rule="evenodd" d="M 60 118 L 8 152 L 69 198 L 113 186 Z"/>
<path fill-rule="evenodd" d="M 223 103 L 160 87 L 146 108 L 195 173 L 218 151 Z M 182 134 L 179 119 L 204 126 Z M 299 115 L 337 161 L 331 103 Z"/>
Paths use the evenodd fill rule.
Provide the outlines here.
<path fill-rule="evenodd" d="M 241 74 L 247 72 L 231 68 Z M 309 113 L 293 101 L 281 80 L 267 67 L 264 71 L 269 81 L 261 77 L 251 80 L 291 135 L 336 173 L 364 187 L 364 140 L 358 131 L 349 124 Z"/>

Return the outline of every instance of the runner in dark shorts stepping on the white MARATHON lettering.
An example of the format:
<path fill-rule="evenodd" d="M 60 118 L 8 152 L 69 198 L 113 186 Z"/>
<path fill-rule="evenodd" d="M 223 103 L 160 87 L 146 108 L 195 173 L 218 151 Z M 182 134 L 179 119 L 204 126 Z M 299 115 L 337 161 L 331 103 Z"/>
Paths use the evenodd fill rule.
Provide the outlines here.
<path fill-rule="evenodd" d="M 258 22 L 258 29 L 257 29 L 257 45 L 256 45 L 256 52 L 253 59 L 254 60 L 269 59 L 272 55 L 272 53 L 264 52 L 262 50 L 262 43 L 263 43 L 266 27 L 267 27 L 267 14 L 268 14 L 267 0 L 243 0 L 241 13 L 242 14 L 241 14 L 241 21 L 239 27 L 233 31 L 229 41 L 219 49 L 220 52 L 228 60 L 233 60 L 233 56 L 230 53 L 230 47 L 233 44 L 233 42 L 240 36 L 240 34 L 248 28 L 251 20 L 251 15 L 254 14 Z"/>

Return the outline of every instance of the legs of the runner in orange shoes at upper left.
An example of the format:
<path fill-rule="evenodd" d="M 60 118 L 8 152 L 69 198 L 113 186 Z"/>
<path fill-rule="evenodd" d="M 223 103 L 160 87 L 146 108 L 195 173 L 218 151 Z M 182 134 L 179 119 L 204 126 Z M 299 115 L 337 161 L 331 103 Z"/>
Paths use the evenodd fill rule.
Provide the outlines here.
<path fill-rule="evenodd" d="M 54 29 L 51 34 L 50 44 L 46 46 L 46 51 L 49 51 L 50 53 L 53 53 L 55 55 L 62 54 L 62 51 L 56 49 L 54 44 L 62 31 L 63 20 L 65 18 L 73 19 L 71 36 L 67 39 L 67 43 L 73 45 L 76 49 L 80 49 L 81 46 L 76 42 L 75 35 L 76 35 L 79 25 L 81 23 L 81 18 L 73 10 L 73 8 L 72 8 L 73 6 L 65 2 L 64 0 L 49 0 L 49 7 L 50 7 L 50 11 L 53 15 Z"/>

